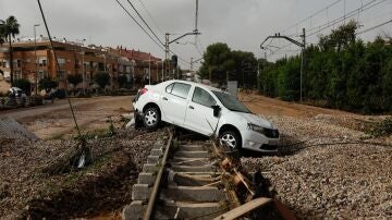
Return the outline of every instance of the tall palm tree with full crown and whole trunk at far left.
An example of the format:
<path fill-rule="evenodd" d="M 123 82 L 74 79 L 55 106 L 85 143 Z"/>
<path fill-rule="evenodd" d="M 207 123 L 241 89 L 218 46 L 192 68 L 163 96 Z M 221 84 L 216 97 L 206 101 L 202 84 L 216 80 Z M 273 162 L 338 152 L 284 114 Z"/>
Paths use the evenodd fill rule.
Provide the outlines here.
<path fill-rule="evenodd" d="M 9 16 L 5 22 L 2 24 L 3 35 L 5 40 L 9 41 L 9 53 L 10 53 L 10 75 L 11 84 L 13 83 L 13 59 L 12 59 L 12 45 L 11 39 L 15 38 L 20 34 L 20 24 L 14 16 Z"/>

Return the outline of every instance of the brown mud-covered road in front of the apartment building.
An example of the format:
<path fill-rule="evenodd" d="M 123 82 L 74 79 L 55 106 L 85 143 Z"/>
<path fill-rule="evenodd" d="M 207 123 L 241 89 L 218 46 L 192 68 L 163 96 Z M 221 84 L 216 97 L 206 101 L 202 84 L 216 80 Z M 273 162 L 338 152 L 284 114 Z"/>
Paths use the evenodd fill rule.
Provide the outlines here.
<path fill-rule="evenodd" d="M 108 127 L 108 117 L 121 115 L 132 111 L 131 100 L 132 96 L 103 96 L 71 99 L 71 102 L 83 132 Z M 15 119 L 44 139 L 76 134 L 66 100 L 59 100 L 53 105 L 41 107 L 0 112 L 0 117 Z"/>

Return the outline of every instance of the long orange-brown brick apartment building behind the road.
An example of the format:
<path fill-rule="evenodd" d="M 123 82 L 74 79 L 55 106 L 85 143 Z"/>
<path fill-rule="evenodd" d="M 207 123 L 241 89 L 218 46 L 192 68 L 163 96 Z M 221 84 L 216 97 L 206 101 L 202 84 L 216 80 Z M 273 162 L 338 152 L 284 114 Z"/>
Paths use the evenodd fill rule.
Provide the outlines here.
<path fill-rule="evenodd" d="M 56 59 L 50 49 L 50 41 L 40 37 L 37 42 L 34 38 L 19 40 L 12 44 L 13 50 L 13 77 L 27 78 L 32 83 L 32 90 L 35 88 L 35 82 L 44 77 L 50 77 L 59 83 L 59 88 L 66 89 L 95 89 L 98 87 L 94 83 L 94 75 L 98 72 L 108 72 L 110 74 L 110 85 L 107 89 L 119 88 L 118 77 L 126 75 L 130 83 L 142 82 L 148 83 L 149 60 L 150 64 L 158 64 L 159 59 L 151 56 L 146 57 L 146 52 L 128 52 L 122 49 L 112 49 L 107 47 L 97 47 L 90 45 L 84 47 L 81 42 L 54 40 L 53 47 L 58 57 L 57 68 Z M 35 62 L 35 60 L 37 62 Z M 37 65 L 36 65 L 37 63 Z M 151 66 L 152 68 L 152 66 Z M 155 72 L 152 73 L 152 70 Z M 156 74 L 158 69 L 151 69 L 151 74 Z M 68 76 L 81 74 L 83 83 L 72 85 Z M 8 46 L 0 47 L 0 93 L 5 93 L 10 85 L 10 63 Z M 151 76 L 154 82 L 157 77 Z M 152 83 L 152 82 L 151 82 Z"/>

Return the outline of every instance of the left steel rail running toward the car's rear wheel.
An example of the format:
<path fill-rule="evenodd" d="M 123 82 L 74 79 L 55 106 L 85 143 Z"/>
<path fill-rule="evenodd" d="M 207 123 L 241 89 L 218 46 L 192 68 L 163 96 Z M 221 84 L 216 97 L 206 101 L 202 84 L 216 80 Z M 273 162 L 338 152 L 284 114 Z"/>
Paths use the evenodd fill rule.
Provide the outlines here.
<path fill-rule="evenodd" d="M 151 195 L 149 196 L 148 198 L 148 204 L 147 204 L 147 208 L 146 208 L 146 211 L 144 213 L 144 217 L 143 219 L 144 220 L 150 220 L 154 218 L 154 208 L 155 208 L 155 204 L 156 204 L 156 200 L 157 200 L 157 197 L 159 195 L 159 186 L 161 184 L 161 180 L 162 180 L 162 175 L 163 175 L 163 171 L 166 169 L 166 164 L 167 164 L 167 160 L 168 160 L 168 156 L 169 156 L 169 151 L 170 151 L 170 146 L 172 144 L 172 138 L 173 138 L 173 133 L 170 132 L 170 136 L 169 136 L 169 140 L 168 140 L 168 144 L 166 146 L 166 149 L 164 149 L 164 154 L 163 154 L 163 157 L 162 157 L 162 160 L 161 160 L 161 166 L 159 167 L 159 170 L 158 170 L 158 174 L 157 174 L 157 179 L 154 183 L 154 187 L 152 187 L 152 191 L 151 191 Z"/>

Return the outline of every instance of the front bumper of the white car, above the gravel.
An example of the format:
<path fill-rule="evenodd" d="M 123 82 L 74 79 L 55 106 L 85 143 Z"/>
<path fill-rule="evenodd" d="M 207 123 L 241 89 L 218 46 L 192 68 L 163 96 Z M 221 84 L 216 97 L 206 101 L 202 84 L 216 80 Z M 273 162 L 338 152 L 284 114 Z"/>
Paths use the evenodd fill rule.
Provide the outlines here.
<path fill-rule="evenodd" d="M 280 138 L 269 138 L 264 134 L 247 130 L 242 133 L 243 148 L 260 152 L 277 152 Z"/>

